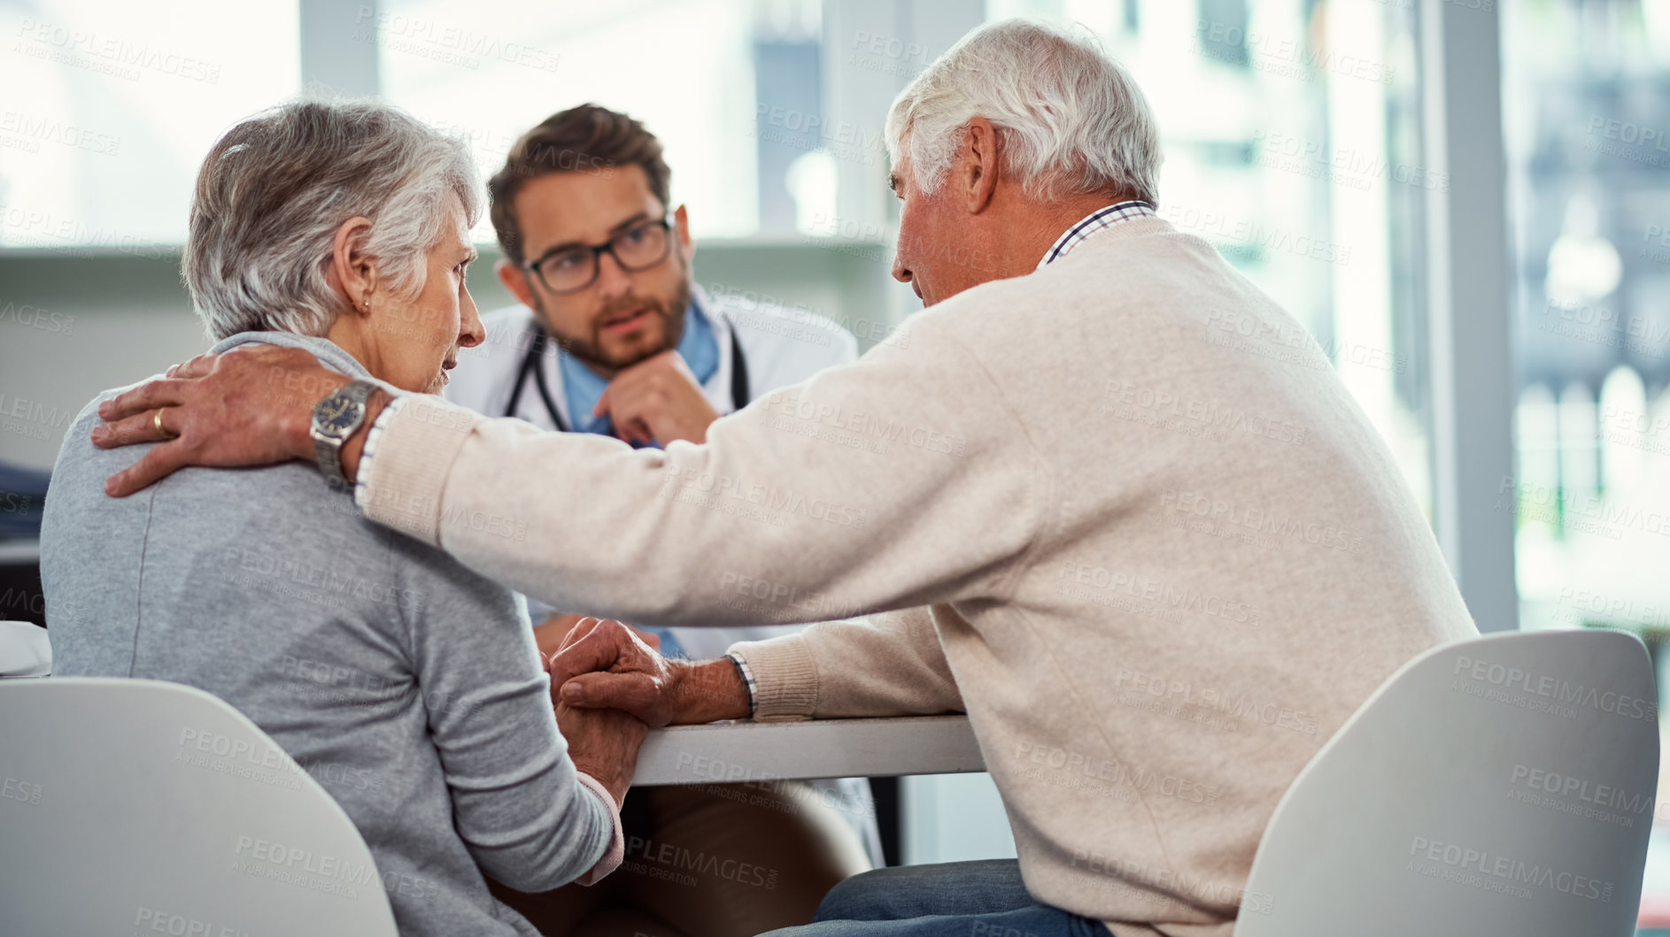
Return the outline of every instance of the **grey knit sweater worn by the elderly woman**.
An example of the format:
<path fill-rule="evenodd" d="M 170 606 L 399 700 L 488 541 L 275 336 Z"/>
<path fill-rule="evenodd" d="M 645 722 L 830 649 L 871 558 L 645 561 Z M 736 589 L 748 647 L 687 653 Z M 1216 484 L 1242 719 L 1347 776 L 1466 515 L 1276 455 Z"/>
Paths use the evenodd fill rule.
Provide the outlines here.
<path fill-rule="evenodd" d="M 369 377 L 324 338 L 214 350 L 245 342 Z M 352 817 L 401 934 L 534 934 L 484 875 L 579 877 L 613 805 L 576 782 L 521 600 L 367 522 L 312 465 L 185 468 L 105 497 L 139 453 L 89 442 L 99 400 L 63 440 L 42 527 L 57 674 L 189 684 L 249 715 Z"/>

